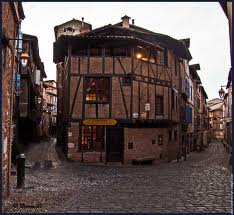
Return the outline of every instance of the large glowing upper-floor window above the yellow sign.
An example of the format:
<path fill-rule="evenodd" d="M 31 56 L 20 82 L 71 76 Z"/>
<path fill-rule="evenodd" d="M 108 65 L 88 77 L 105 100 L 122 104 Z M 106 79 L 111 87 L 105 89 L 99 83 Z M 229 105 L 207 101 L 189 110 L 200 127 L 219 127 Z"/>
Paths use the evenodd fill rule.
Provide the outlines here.
<path fill-rule="evenodd" d="M 109 78 L 87 78 L 86 97 L 87 103 L 107 103 L 109 101 Z"/>

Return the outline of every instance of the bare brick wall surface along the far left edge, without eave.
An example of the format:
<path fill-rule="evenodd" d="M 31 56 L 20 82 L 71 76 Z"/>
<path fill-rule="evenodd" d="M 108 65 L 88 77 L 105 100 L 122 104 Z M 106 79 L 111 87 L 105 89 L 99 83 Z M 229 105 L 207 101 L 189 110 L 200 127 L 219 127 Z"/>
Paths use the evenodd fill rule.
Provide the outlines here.
<path fill-rule="evenodd" d="M 2 31 L 9 38 L 16 37 L 17 25 L 9 2 L 2 3 Z M 15 42 L 9 44 L 14 52 Z M 2 49 L 2 176 L 3 199 L 9 195 L 9 174 L 11 165 L 12 107 L 13 107 L 14 53 L 9 47 Z"/>

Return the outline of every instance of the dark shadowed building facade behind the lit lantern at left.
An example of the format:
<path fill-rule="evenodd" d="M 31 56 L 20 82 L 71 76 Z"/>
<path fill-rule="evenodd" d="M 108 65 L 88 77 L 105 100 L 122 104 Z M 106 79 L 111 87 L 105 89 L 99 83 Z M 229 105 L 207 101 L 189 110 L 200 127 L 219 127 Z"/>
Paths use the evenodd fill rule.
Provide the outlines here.
<path fill-rule="evenodd" d="M 21 94 L 19 96 L 19 143 L 29 144 L 40 140 L 42 119 L 44 64 L 39 55 L 36 36 L 23 34 L 23 53 L 27 64 L 21 65 Z"/>

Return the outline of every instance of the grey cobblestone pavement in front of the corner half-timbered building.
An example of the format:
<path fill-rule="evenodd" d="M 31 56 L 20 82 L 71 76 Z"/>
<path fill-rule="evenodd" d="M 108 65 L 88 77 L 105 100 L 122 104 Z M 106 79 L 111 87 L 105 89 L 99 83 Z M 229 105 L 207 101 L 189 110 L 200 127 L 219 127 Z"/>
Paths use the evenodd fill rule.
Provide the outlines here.
<path fill-rule="evenodd" d="M 27 195 L 31 200 L 37 196 L 41 202 L 34 201 L 41 207 L 34 211 L 41 212 L 231 213 L 232 208 L 231 172 L 221 143 L 211 143 L 206 151 L 193 152 L 179 163 L 104 166 L 65 162 L 56 169 L 30 170 L 26 181 L 29 188 L 17 191 L 21 202 Z"/>

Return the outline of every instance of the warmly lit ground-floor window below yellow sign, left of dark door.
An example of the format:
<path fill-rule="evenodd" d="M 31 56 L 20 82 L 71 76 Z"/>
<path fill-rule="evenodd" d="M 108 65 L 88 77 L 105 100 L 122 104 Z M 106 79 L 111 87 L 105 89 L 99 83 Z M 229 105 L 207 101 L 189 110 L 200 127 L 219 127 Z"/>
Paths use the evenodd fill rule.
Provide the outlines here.
<path fill-rule="evenodd" d="M 84 151 L 103 151 L 103 126 L 82 126 L 80 149 Z"/>

